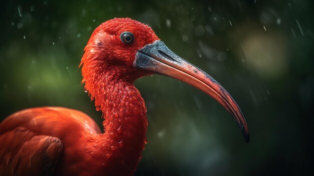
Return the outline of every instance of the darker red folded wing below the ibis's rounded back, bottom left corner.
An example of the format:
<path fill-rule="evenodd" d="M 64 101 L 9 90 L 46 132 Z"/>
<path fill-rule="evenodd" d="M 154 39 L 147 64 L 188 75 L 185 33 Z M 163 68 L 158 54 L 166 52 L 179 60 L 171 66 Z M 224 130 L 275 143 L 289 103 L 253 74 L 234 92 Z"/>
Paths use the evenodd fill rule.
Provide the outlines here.
<path fill-rule="evenodd" d="M 53 175 L 63 144 L 17 127 L 0 135 L 0 175 Z"/>

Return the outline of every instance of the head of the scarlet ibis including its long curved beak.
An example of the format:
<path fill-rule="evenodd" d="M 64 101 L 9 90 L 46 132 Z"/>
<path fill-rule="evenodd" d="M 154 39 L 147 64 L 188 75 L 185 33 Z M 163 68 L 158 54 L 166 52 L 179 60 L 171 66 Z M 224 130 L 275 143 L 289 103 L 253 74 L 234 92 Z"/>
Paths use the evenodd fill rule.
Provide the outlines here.
<path fill-rule="evenodd" d="M 81 61 L 83 82 L 89 91 L 95 77 L 135 79 L 153 73 L 170 76 L 188 83 L 217 100 L 238 123 L 249 141 L 244 116 L 230 94 L 211 76 L 172 52 L 150 27 L 129 18 L 115 18 L 95 29 L 85 47 Z"/>

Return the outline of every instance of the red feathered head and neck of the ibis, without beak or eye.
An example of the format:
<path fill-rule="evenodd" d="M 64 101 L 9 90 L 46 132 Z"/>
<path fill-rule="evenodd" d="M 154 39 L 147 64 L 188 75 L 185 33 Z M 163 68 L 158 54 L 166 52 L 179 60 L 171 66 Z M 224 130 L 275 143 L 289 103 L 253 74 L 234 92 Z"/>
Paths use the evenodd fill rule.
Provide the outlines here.
<path fill-rule="evenodd" d="M 132 45 L 120 41 L 123 31 L 136 36 Z M 131 19 L 113 19 L 100 25 L 85 47 L 82 83 L 105 119 L 105 133 L 95 144 L 99 151 L 92 157 L 108 175 L 116 175 L 118 170 L 120 175 L 131 175 L 141 157 L 146 107 L 133 81 L 151 73 L 132 64 L 136 51 L 155 40 L 159 38 L 148 26 Z"/>

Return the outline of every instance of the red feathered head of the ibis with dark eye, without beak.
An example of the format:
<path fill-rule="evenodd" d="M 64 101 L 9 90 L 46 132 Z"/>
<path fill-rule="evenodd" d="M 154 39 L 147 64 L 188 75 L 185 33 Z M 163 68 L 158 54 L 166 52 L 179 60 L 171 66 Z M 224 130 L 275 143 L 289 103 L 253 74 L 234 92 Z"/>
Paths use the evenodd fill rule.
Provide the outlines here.
<path fill-rule="evenodd" d="M 116 79 L 128 81 L 151 72 L 133 67 L 137 51 L 159 40 L 150 27 L 129 18 L 115 18 L 98 26 L 91 35 L 81 60 L 83 77 L 97 70 L 110 70 Z M 97 72 L 96 71 L 96 72 Z M 86 74 L 84 75 L 84 73 Z"/>

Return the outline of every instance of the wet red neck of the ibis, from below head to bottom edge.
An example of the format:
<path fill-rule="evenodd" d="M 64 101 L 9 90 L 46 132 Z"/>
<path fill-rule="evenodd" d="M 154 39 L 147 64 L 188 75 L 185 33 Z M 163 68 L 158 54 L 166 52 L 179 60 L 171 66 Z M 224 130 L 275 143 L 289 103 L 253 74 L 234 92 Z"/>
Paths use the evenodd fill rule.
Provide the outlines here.
<path fill-rule="evenodd" d="M 133 82 L 117 79 L 112 72 L 102 73 L 97 80 L 103 86 L 98 89 L 101 96 L 94 96 L 96 107 L 103 112 L 105 130 L 96 141 L 101 149 L 98 160 L 107 173 L 122 169 L 123 174 L 132 174 L 144 149 L 146 107 Z"/>

